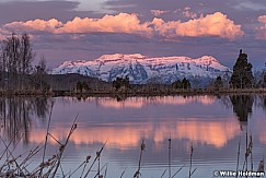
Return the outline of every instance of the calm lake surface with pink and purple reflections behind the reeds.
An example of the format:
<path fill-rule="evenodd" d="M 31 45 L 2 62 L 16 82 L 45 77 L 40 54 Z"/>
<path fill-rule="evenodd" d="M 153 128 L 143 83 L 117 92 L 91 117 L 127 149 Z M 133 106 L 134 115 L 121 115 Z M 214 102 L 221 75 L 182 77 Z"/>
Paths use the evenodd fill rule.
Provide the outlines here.
<path fill-rule="evenodd" d="M 78 116 L 78 129 L 70 138 L 62 159 L 65 175 L 73 171 L 88 155 L 92 156 L 92 163 L 106 141 L 101 167 L 108 178 L 120 177 L 124 170 L 124 177 L 134 176 L 142 139 L 146 150 L 140 173 L 144 178 L 161 177 L 167 168 L 169 138 L 172 139 L 171 175 L 184 166 L 176 177 L 188 177 L 192 145 L 192 169 L 196 169 L 193 174 L 196 178 L 212 177 L 213 170 L 235 170 L 239 140 L 242 168 L 246 132 L 253 140 L 253 169 L 257 169 L 266 155 L 265 96 L 129 97 L 123 100 L 108 97 L 81 100 L 70 97 L 1 98 L 1 138 L 5 144 L 12 142 L 10 147 L 14 147 L 14 155 L 44 143 L 51 102 L 49 132 L 58 141 L 67 139 Z M 1 151 L 4 150 L 3 141 Z M 49 139 L 46 155 L 55 154 L 58 146 Z M 34 156 L 27 168 L 35 168 L 41 159 L 42 154 Z M 97 169 L 96 165 L 93 170 Z M 251 167 L 248 158 L 248 169 Z M 72 177 L 79 177 L 81 171 Z M 95 174 L 92 171 L 89 177 Z M 169 169 L 164 177 L 169 177 Z"/>

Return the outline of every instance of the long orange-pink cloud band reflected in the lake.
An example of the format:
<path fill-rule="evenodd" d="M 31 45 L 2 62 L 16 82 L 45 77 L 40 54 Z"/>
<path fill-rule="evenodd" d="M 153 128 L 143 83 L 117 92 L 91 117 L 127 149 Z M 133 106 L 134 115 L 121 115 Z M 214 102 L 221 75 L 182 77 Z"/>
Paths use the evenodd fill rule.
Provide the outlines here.
<path fill-rule="evenodd" d="M 80 126 L 76 130 L 70 141 L 74 144 L 93 144 L 100 142 L 102 144 L 108 140 L 108 146 L 118 150 L 127 150 L 138 146 L 141 139 L 151 140 L 154 144 L 160 145 L 171 135 L 173 140 L 189 140 L 197 144 L 208 144 L 217 149 L 223 147 L 227 142 L 240 134 L 238 120 L 233 118 L 221 118 L 217 121 L 210 120 L 206 122 L 199 119 L 175 120 L 166 119 L 165 122 L 123 122 L 119 126 Z M 66 140 L 69 128 L 56 126 L 50 133 Z M 30 137 L 33 143 L 42 143 L 45 138 L 45 130 L 36 130 Z M 53 142 L 56 144 L 56 142 Z"/>

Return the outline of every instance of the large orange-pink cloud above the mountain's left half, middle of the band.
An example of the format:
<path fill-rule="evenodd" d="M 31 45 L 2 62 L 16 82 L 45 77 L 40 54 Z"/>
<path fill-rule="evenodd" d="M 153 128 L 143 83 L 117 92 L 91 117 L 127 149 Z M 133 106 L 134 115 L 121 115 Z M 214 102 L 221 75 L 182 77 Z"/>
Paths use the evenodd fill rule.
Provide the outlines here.
<path fill-rule="evenodd" d="M 105 15 L 102 19 L 74 17 L 55 31 L 57 34 L 93 32 L 128 33 L 149 36 L 152 33 L 152 28 L 149 27 L 148 23 L 141 23 L 137 14 L 119 13 L 117 15 Z"/>

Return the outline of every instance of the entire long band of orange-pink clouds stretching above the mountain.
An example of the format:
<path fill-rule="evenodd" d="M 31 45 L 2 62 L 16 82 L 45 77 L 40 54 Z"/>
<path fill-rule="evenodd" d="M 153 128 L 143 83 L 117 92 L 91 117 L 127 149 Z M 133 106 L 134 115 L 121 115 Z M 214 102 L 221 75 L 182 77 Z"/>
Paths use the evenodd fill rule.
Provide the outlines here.
<path fill-rule="evenodd" d="M 188 12 L 189 9 L 186 9 Z M 188 12 L 189 13 L 189 12 Z M 12 22 L 3 25 L 4 29 L 31 32 L 46 32 L 54 34 L 92 34 L 92 33 L 124 33 L 144 37 L 159 34 L 165 39 L 173 37 L 220 37 L 234 39 L 242 36 L 241 25 L 235 25 L 221 12 L 200 15 L 187 14 L 193 20 L 182 22 L 164 21 L 154 17 L 152 21 L 141 22 L 137 14 L 119 13 L 117 15 L 104 15 L 101 19 L 74 17 L 72 21 L 62 23 L 56 19 L 48 21 L 34 20 L 26 22 Z"/>

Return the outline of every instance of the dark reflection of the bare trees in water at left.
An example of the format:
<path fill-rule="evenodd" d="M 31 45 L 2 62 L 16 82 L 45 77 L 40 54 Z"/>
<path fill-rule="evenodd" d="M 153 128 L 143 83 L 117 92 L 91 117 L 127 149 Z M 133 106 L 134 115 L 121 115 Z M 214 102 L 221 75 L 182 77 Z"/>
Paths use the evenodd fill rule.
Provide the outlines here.
<path fill-rule="evenodd" d="M 1 137 L 8 141 L 28 143 L 32 120 L 47 116 L 51 99 L 46 97 L 1 97 Z"/>

